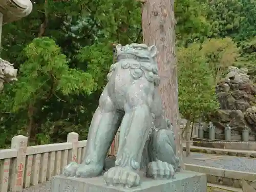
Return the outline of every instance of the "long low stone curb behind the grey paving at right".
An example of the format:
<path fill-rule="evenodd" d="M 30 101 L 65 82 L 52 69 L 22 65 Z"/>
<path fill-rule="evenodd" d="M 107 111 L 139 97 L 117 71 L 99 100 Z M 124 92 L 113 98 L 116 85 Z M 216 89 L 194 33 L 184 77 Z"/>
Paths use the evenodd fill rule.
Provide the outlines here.
<path fill-rule="evenodd" d="M 184 143 L 183 151 L 186 151 L 186 144 Z M 251 150 L 228 150 L 223 148 L 208 148 L 190 145 L 190 152 L 256 158 L 256 151 Z"/>

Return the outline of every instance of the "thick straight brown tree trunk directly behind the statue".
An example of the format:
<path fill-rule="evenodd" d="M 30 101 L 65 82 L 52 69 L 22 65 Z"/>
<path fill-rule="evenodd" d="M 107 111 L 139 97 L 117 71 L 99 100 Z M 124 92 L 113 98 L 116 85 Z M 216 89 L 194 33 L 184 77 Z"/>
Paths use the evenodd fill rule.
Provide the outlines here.
<path fill-rule="evenodd" d="M 173 123 L 177 139 L 177 155 L 182 156 L 182 139 L 179 129 L 178 79 L 175 55 L 174 0 L 145 1 L 142 8 L 144 44 L 158 49 L 157 65 L 161 79 L 159 91 L 164 115 Z M 183 163 L 181 163 L 183 167 Z"/>

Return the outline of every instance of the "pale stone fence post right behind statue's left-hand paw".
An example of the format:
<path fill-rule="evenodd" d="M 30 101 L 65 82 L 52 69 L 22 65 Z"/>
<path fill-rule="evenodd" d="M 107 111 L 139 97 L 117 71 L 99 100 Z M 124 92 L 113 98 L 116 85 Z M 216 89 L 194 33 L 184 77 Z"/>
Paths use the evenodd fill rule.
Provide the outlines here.
<path fill-rule="evenodd" d="M 69 154 L 68 163 L 71 161 L 77 162 L 77 148 L 79 135 L 75 132 L 68 134 L 67 142 L 72 143 L 72 152 Z"/>

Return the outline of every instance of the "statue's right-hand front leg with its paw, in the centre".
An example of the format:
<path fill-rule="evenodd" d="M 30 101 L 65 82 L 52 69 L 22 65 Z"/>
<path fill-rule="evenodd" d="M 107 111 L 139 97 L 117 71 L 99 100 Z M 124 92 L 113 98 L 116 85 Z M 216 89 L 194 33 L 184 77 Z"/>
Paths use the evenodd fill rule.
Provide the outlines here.
<path fill-rule="evenodd" d="M 107 184 L 121 184 L 126 187 L 140 184 L 137 170 L 140 168 L 142 151 L 150 123 L 150 109 L 146 104 L 138 105 L 131 111 L 125 111 L 115 167 L 110 168 L 104 174 Z"/>

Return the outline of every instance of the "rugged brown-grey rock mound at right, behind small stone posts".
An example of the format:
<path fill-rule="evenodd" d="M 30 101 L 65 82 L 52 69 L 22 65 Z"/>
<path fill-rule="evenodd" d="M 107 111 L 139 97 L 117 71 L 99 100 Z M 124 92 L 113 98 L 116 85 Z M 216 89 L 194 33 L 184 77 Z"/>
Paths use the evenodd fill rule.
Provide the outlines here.
<path fill-rule="evenodd" d="M 247 68 L 229 67 L 228 74 L 218 84 L 216 93 L 220 110 L 210 115 L 210 120 L 221 134 L 228 123 L 233 134 L 243 129 L 256 132 L 256 86 L 247 75 Z"/>

